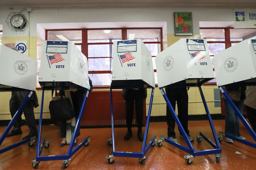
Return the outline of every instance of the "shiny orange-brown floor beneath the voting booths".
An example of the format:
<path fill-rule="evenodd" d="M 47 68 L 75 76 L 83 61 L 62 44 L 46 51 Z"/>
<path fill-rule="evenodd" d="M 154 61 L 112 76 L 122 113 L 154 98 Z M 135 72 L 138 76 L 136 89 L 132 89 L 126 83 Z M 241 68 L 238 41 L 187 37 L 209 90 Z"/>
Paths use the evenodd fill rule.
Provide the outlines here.
<path fill-rule="evenodd" d="M 219 131 L 224 131 L 225 121 L 215 120 L 213 121 L 215 130 L 218 134 Z M 0 135 L 4 132 L 6 127 L 0 127 Z M 145 127 L 143 128 L 145 130 Z M 190 135 L 195 138 L 192 142 L 196 151 L 213 149 L 210 144 L 208 144 L 204 139 L 201 143 L 197 143 L 196 136 L 199 132 L 203 132 L 209 139 L 213 140 L 213 135 L 210 129 L 208 121 L 189 121 L 188 129 L 190 130 Z M 133 137 L 129 141 L 124 141 L 124 135 L 126 133 L 126 128 L 114 128 L 115 130 L 115 148 L 116 151 L 120 152 L 141 152 L 142 142 L 137 139 L 137 128 L 133 127 Z M 22 127 L 23 134 L 7 137 L 0 146 L 0 149 L 19 142 L 23 136 L 28 134 L 28 127 Z M 175 128 L 177 139 L 179 143 L 187 146 L 185 140 L 179 137 L 179 132 L 177 125 Z M 246 137 L 246 140 L 255 143 L 252 136 L 249 134 L 244 125 L 240 122 L 240 133 L 242 136 Z M 113 170 L 123 170 L 123 169 L 256 169 L 256 149 L 248 145 L 234 141 L 233 144 L 228 144 L 225 142 L 225 137 L 223 137 L 220 143 L 222 153 L 220 155 L 220 162 L 217 163 L 215 160 L 215 155 L 203 155 L 196 156 L 191 165 L 187 165 L 184 155 L 188 153 L 174 147 L 167 142 L 164 142 L 162 147 L 155 146 L 150 147 L 146 153 L 145 163 L 140 164 L 139 158 L 131 157 L 116 157 L 113 164 L 108 164 L 106 159 L 107 155 L 113 153 L 112 146 L 108 145 L 107 140 L 111 138 L 111 128 L 88 128 L 81 129 L 81 136 L 77 138 L 78 144 L 85 139 L 87 136 L 91 136 L 91 142 L 89 146 L 83 146 L 78 150 L 71 158 L 70 164 L 66 169 L 113 169 Z M 152 122 L 149 124 L 148 139 L 151 139 L 156 135 L 159 139 L 159 135 L 167 137 L 167 125 L 166 122 Z M 50 147 L 42 150 L 42 155 L 60 155 L 67 154 L 68 146 L 60 147 L 60 130 L 56 125 L 44 125 L 42 127 L 41 137 L 45 137 L 46 141 L 50 141 Z M 237 154 L 237 152 L 241 154 Z M 16 147 L 10 151 L 0 154 L 0 169 L 34 169 L 32 167 L 31 160 L 36 158 L 36 143 L 32 146 L 28 144 L 23 144 Z M 41 161 L 37 169 L 62 169 L 63 160 L 48 160 Z"/>

